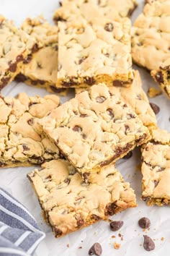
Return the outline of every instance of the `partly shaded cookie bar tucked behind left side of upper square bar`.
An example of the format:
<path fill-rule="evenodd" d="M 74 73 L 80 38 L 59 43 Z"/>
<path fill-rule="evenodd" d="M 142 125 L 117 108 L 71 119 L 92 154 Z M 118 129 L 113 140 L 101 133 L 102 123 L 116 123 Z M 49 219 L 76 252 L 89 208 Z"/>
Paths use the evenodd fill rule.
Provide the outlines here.
<path fill-rule="evenodd" d="M 28 85 L 46 88 L 50 93 L 66 95 L 67 90 L 57 88 L 58 72 L 58 27 L 50 25 L 43 17 L 27 18 L 22 30 L 32 35 L 42 44 L 34 56 L 28 56 L 16 80 Z"/>

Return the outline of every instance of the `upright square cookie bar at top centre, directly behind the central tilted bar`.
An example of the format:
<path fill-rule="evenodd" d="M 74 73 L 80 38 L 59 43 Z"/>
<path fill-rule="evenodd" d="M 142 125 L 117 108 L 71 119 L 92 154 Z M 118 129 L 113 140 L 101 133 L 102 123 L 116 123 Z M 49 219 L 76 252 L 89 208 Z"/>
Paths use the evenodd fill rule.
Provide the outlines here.
<path fill-rule="evenodd" d="M 130 20 L 84 19 L 58 22 L 57 86 L 79 88 L 107 82 L 108 86 L 130 86 L 133 69 Z"/>

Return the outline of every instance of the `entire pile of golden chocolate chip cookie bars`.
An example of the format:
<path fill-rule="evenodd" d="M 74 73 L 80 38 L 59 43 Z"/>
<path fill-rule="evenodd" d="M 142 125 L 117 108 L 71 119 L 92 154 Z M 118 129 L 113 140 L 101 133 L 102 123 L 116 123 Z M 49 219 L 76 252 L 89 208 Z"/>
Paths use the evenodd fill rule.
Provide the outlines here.
<path fill-rule="evenodd" d="M 41 165 L 27 177 L 55 237 L 136 206 L 115 162 L 137 146 L 143 200 L 169 204 L 170 134 L 157 127 L 132 57 L 170 96 L 170 2 L 148 0 L 131 40 L 135 7 L 63 0 L 56 25 L 27 18 L 20 29 L 0 17 L 1 88 L 15 78 L 50 93 L 76 90 L 63 105 L 51 94 L 0 98 L 0 166 Z"/>

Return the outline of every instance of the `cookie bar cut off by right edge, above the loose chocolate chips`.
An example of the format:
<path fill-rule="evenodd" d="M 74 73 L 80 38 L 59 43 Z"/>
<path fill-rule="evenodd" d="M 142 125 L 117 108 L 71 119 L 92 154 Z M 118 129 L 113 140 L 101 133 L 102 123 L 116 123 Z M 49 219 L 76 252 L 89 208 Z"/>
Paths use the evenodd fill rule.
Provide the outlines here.
<path fill-rule="evenodd" d="M 152 137 L 142 153 L 142 198 L 148 205 L 170 205 L 170 133 L 156 129 Z"/>

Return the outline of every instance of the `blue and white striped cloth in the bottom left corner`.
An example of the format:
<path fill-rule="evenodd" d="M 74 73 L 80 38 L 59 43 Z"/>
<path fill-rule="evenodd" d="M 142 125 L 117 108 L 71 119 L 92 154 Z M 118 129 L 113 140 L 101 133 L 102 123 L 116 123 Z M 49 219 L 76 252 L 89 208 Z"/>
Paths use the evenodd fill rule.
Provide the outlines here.
<path fill-rule="evenodd" d="M 44 238 L 29 211 L 0 188 L 0 256 L 32 255 Z"/>

